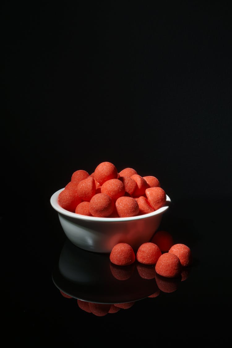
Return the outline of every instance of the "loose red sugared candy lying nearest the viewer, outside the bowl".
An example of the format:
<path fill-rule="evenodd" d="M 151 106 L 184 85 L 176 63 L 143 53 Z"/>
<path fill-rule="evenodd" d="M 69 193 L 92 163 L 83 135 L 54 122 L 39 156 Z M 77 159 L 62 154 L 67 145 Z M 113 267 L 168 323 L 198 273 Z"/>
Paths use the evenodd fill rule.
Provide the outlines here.
<path fill-rule="evenodd" d="M 163 277 L 175 278 L 181 275 L 182 266 L 178 256 L 172 253 L 162 254 L 155 264 L 156 272 Z"/>

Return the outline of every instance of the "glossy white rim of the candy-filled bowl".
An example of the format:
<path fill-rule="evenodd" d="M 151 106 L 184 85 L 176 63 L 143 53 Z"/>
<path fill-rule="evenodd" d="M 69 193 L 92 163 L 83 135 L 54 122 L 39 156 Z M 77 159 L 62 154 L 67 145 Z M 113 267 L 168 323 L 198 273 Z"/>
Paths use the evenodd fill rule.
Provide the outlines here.
<path fill-rule="evenodd" d="M 53 195 L 50 197 L 50 204 L 51 206 L 60 214 L 68 216 L 68 217 L 73 217 L 77 220 L 85 220 L 85 221 L 95 221 L 95 222 L 120 222 L 120 221 L 136 221 L 136 220 L 141 220 L 141 219 L 146 219 L 147 217 L 155 216 L 164 213 L 168 208 L 169 205 L 165 205 L 157 210 L 155 210 L 152 213 L 148 214 L 143 214 L 143 215 L 136 215 L 136 216 L 129 216 L 129 217 L 95 217 L 95 216 L 87 216 L 87 215 L 81 215 L 77 213 L 72 213 L 69 212 L 68 210 L 62 208 L 58 204 L 58 196 L 61 191 L 63 191 L 64 188 L 59 189 L 58 191 L 54 192 Z M 166 201 L 168 203 L 171 202 L 170 197 L 166 194 Z"/>

